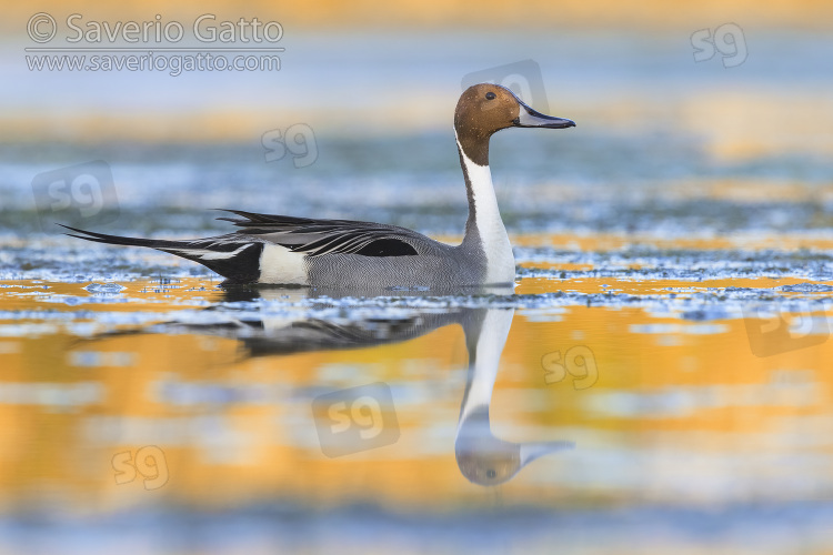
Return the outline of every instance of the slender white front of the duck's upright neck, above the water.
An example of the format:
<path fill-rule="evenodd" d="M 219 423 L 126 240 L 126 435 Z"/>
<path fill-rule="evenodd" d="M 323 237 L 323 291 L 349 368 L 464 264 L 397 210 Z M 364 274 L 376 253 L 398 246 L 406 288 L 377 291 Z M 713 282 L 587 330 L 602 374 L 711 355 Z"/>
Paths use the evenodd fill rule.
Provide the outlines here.
<path fill-rule="evenodd" d="M 454 134 L 456 135 L 456 132 Z M 485 283 L 514 283 L 515 258 L 498 209 L 498 198 L 494 195 L 494 185 L 492 185 L 492 171 L 489 165 L 479 165 L 465 155 L 460 140 L 456 141 L 456 148 L 460 150 L 460 158 L 471 186 L 472 205 L 469 210 L 474 211 L 474 225 L 486 255 Z"/>

